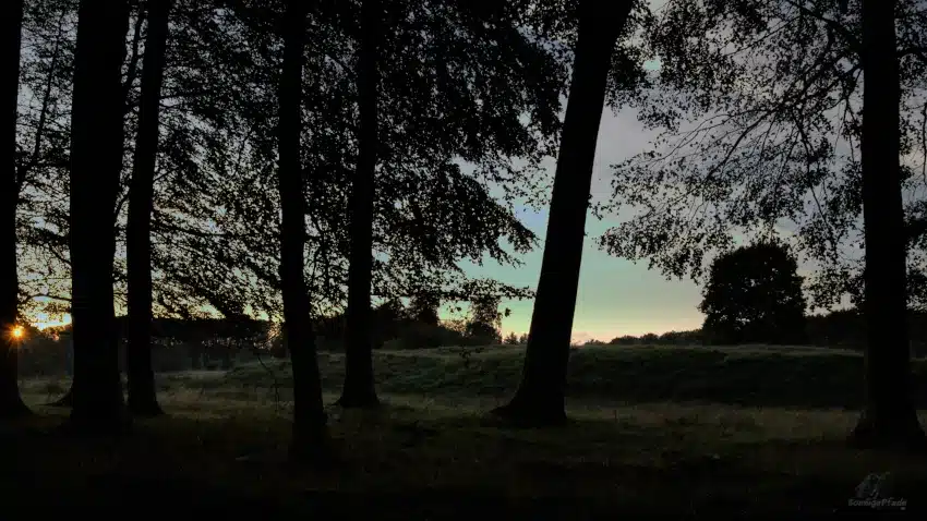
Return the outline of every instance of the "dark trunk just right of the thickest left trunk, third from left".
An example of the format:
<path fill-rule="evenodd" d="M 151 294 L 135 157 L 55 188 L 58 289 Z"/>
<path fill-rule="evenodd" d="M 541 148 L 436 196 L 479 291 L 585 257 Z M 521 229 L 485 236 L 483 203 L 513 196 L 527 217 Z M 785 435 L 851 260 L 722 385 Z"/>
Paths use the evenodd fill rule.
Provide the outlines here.
<path fill-rule="evenodd" d="M 135 140 L 129 222 L 125 229 L 129 272 L 129 344 L 125 350 L 129 412 L 140 416 L 164 414 L 158 404 L 155 372 L 152 368 L 152 211 L 158 155 L 158 109 L 170 4 L 171 0 L 147 2 L 148 34 L 142 62 L 139 135 Z"/>

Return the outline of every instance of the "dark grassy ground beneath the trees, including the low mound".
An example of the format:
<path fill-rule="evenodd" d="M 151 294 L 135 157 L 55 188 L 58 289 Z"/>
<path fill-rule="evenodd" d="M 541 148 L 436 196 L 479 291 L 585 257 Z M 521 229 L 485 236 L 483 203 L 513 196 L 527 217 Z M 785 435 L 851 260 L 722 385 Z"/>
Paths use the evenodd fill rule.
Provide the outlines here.
<path fill-rule="evenodd" d="M 64 412 L 0 429 L 8 505 L 144 505 L 148 512 L 361 514 L 464 519 L 492 511 L 568 519 L 621 513 L 782 517 L 830 513 L 872 472 L 894 475 L 907 512 L 927 461 L 843 444 L 862 360 L 804 348 L 589 348 L 571 360 L 571 425 L 513 431 L 486 420 L 517 385 L 522 351 L 380 352 L 377 412 L 330 409 L 342 464 L 288 469 L 286 363 L 159 375 L 170 416 L 121 441 L 72 440 Z M 321 356 L 327 400 L 342 377 Z M 269 369 L 269 371 L 268 371 Z M 925 403 L 925 365 L 916 365 Z M 67 383 L 23 383 L 32 404 Z M 53 393 L 53 392 L 52 392 Z M 922 420 L 927 420 L 924 417 Z M 12 477 L 12 476 L 11 476 Z M 47 497 L 36 502 L 34 497 Z"/>

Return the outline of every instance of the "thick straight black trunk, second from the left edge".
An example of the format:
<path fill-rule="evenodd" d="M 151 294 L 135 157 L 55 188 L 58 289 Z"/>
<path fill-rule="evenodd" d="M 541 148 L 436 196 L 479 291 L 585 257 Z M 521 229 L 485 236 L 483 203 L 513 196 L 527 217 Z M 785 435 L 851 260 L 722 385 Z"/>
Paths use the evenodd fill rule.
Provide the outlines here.
<path fill-rule="evenodd" d="M 125 0 L 82 0 L 71 110 L 73 408 L 79 432 L 127 426 L 113 311 L 116 197 L 122 169 Z"/>

